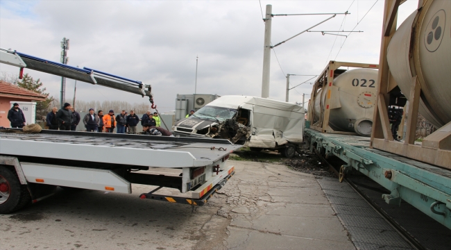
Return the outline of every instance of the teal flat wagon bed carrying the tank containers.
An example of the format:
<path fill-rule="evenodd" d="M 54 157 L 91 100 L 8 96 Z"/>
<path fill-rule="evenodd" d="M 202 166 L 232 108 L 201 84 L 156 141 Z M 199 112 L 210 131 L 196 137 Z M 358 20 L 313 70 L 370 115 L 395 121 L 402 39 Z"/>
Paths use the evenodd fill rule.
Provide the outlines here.
<path fill-rule="evenodd" d="M 305 129 L 310 150 L 325 157 L 337 156 L 346 164 L 340 175 L 352 169 L 365 174 L 391 193 L 386 203 L 400 206 L 401 199 L 437 222 L 451 228 L 451 171 L 386 151 L 371 149 L 370 138 L 319 133 Z"/>

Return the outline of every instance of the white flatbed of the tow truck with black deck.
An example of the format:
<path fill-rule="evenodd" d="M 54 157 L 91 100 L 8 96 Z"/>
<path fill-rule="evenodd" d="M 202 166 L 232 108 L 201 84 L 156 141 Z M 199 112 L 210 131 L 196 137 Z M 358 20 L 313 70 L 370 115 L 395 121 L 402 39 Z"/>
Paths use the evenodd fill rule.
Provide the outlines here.
<path fill-rule="evenodd" d="M 227 160 L 241 147 L 228 140 L 203 138 L 8 129 L 0 130 L 0 170 L 6 167 L 6 172 L 15 172 L 22 187 L 33 183 L 131 194 L 135 183 L 158 187 L 140 194 L 141 199 L 202 206 L 235 174 Z M 180 174 L 148 171 L 153 168 L 180 169 Z M 9 195 L 14 188 L 10 181 L 0 175 L 0 182 Z M 155 194 L 161 188 L 186 194 Z M 33 201 L 42 198 L 30 192 Z M 0 208 L 8 201 L 7 195 L 3 197 Z M 17 209 L 12 206 L 5 211 Z"/>

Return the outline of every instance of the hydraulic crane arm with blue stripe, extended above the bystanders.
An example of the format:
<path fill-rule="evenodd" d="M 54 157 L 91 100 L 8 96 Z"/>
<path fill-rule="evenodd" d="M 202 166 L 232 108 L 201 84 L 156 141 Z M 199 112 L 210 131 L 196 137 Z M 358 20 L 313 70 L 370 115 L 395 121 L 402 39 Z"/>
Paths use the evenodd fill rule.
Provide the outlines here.
<path fill-rule="evenodd" d="M 71 67 L 69 65 L 52 62 L 51 60 L 45 60 L 35 56 L 29 56 L 25 53 L 1 48 L 0 63 L 19 67 L 19 78 L 21 79 L 24 68 L 34 69 L 40 72 L 71 78 L 77 81 L 84 81 L 86 83 L 102 85 L 117 90 L 140 94 L 142 97 L 149 97 L 151 103 L 153 103 L 151 85 L 146 85 L 141 81 L 134 81 L 121 76 L 114 76 L 113 74 L 100 72 L 96 69 L 90 69 L 87 67 L 80 69 L 78 67 Z"/>

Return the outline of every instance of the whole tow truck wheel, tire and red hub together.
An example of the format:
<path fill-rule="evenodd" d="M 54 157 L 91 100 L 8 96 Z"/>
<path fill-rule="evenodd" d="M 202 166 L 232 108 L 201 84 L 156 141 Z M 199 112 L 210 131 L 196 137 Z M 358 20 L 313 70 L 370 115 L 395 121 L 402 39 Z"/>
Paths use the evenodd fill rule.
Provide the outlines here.
<path fill-rule="evenodd" d="M 0 214 L 12 213 L 31 203 L 30 192 L 16 174 L 0 166 Z"/>

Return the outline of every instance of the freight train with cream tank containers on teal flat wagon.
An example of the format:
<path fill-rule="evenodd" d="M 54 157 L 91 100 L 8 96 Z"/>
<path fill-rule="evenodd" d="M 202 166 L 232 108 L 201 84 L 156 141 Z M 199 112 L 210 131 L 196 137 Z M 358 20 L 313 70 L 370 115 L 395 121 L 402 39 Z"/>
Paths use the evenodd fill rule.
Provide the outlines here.
<path fill-rule="evenodd" d="M 343 161 L 340 181 L 360 172 L 389 190 L 386 203 L 407 201 L 451 228 L 451 1 L 420 1 L 395 30 L 398 3 L 385 3 L 379 66 L 331 61 L 316 80 L 304 138 Z M 395 142 L 389 106 L 404 106 L 402 94 L 407 135 Z M 414 144 L 418 113 L 437 129 L 422 145 Z"/>

